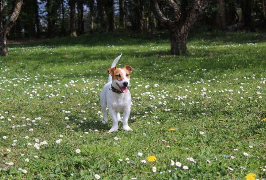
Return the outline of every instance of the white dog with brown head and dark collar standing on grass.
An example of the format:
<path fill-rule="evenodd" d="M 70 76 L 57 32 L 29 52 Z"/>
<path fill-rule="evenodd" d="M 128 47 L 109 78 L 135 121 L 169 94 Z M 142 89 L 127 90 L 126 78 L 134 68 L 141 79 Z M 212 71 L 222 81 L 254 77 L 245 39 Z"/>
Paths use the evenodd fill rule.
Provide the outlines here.
<path fill-rule="evenodd" d="M 126 65 L 124 68 L 117 68 L 116 64 L 120 56 L 115 58 L 111 68 L 107 69 L 109 73 L 108 83 L 103 86 L 100 93 L 100 102 L 103 110 L 103 121 L 108 121 L 106 107 L 108 106 L 110 116 L 113 120 L 113 126 L 109 132 L 118 130 L 118 121 L 123 122 L 123 129 L 125 131 L 132 131 L 128 126 L 128 118 L 131 108 L 131 94 L 128 90 L 130 73 L 133 68 Z M 120 117 L 120 112 L 123 112 L 123 119 Z"/>

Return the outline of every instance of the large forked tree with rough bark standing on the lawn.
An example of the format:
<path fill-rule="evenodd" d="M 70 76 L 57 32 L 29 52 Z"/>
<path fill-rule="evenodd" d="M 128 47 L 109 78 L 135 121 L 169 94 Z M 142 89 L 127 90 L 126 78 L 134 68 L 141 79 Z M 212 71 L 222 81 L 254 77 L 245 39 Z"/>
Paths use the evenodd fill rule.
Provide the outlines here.
<path fill-rule="evenodd" d="M 164 2 L 161 1 L 161 3 Z M 168 0 L 164 8 L 159 7 L 157 0 L 152 0 L 152 3 L 153 12 L 160 24 L 170 31 L 171 54 L 187 54 L 188 32 L 199 16 L 203 14 L 205 1 L 193 0 L 189 4 L 188 1 L 183 0 L 179 5 L 174 0 Z"/>

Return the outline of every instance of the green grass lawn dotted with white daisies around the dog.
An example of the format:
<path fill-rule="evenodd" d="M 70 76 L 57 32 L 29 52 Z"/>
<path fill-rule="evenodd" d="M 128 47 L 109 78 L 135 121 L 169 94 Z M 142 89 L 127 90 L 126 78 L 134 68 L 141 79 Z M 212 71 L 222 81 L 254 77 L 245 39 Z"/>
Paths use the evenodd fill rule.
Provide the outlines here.
<path fill-rule="evenodd" d="M 0 59 L 1 179 L 265 179 L 266 34 L 219 33 L 192 32 L 188 56 L 169 54 L 167 34 L 10 44 L 10 56 Z M 119 123 L 108 134 L 112 122 L 108 115 L 101 123 L 99 94 L 121 52 L 118 66 L 135 69 L 133 131 Z M 48 144 L 36 149 L 35 139 Z M 150 155 L 157 160 L 141 163 Z"/>

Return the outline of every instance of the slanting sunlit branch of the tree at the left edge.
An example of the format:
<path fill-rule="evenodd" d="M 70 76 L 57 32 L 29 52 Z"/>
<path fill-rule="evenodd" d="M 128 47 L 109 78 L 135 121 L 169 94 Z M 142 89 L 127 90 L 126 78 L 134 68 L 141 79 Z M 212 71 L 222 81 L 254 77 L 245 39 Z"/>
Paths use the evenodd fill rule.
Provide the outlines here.
<path fill-rule="evenodd" d="M 23 3 L 23 0 L 16 0 L 15 8 L 13 10 L 13 13 L 10 16 L 9 20 L 7 21 L 7 23 L 4 25 L 5 36 L 8 36 L 10 29 L 14 25 L 15 21 L 18 19 L 18 15 L 19 15 L 22 3 Z"/>

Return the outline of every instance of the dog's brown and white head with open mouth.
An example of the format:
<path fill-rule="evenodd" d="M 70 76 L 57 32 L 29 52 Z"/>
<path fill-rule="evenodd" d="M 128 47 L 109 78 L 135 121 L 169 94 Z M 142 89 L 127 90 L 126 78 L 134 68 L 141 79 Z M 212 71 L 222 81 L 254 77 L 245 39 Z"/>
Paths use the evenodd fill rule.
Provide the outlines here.
<path fill-rule="evenodd" d="M 133 68 L 126 65 L 124 68 L 109 68 L 108 73 L 112 76 L 112 85 L 115 89 L 120 89 L 122 93 L 128 92 L 130 73 Z"/>

